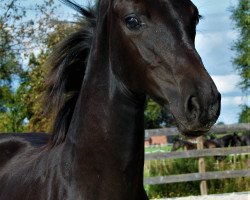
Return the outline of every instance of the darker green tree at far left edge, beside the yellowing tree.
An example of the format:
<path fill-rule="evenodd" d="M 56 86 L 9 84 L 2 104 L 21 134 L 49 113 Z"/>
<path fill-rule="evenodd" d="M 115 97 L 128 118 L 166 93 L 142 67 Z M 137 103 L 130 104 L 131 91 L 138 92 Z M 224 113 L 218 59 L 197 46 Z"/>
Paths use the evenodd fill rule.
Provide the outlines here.
<path fill-rule="evenodd" d="M 0 25 L 2 24 L 0 18 Z M 22 131 L 25 108 L 19 102 L 22 92 L 13 84 L 23 80 L 25 72 L 18 62 L 11 41 L 12 35 L 2 26 L 0 29 L 0 132 Z"/>

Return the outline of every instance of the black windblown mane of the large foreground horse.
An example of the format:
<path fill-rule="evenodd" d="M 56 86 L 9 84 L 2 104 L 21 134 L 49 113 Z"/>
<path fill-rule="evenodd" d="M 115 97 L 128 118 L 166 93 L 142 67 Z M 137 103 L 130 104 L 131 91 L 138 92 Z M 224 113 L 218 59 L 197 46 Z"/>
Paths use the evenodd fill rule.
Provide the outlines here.
<path fill-rule="evenodd" d="M 68 132 L 80 93 L 96 26 L 94 8 L 83 8 L 75 2 L 61 0 L 78 11 L 83 19 L 80 28 L 56 46 L 48 59 L 51 68 L 46 82 L 46 112 L 55 117 L 50 143 L 61 144 Z"/>

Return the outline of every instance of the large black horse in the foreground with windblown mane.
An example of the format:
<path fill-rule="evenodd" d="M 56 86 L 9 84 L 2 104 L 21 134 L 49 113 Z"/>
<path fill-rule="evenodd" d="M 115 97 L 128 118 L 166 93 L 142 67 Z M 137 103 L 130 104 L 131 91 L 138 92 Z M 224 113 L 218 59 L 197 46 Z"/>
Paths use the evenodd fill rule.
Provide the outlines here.
<path fill-rule="evenodd" d="M 146 95 L 169 105 L 180 131 L 199 136 L 220 113 L 220 94 L 195 50 L 190 0 L 71 1 L 88 27 L 50 59 L 47 100 L 56 112 L 45 147 L 20 140 L 1 157 L 1 200 L 146 200 Z"/>

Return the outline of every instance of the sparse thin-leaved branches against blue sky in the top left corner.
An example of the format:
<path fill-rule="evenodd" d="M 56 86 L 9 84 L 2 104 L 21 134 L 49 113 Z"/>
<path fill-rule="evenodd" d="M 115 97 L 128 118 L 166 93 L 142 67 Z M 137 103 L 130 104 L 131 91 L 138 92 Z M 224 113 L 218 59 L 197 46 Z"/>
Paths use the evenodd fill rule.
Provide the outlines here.
<path fill-rule="evenodd" d="M 54 0 L 27 4 L 25 1 L 2 0 L 0 29 L 11 34 L 1 34 L 1 44 L 8 44 L 16 54 L 29 56 L 30 51 L 41 45 L 46 33 L 54 27 L 56 6 Z"/>

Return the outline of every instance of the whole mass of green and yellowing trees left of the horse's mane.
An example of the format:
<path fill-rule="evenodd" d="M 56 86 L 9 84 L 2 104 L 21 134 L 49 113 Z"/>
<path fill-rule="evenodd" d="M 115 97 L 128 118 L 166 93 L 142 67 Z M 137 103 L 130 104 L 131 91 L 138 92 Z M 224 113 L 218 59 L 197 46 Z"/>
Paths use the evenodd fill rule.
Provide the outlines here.
<path fill-rule="evenodd" d="M 54 46 L 77 26 L 59 21 L 56 8 L 54 0 L 1 2 L 0 132 L 50 130 L 53 115 L 44 115 L 42 101 L 49 71 L 44 64 Z"/>

